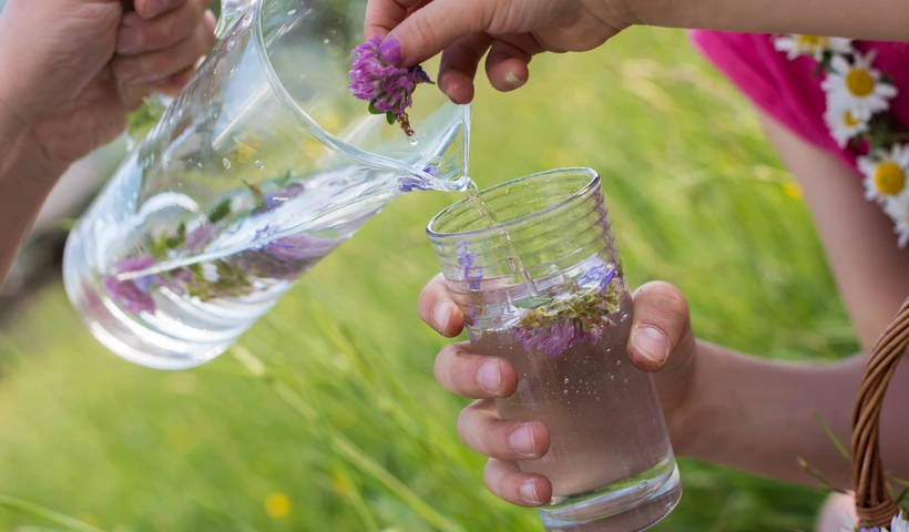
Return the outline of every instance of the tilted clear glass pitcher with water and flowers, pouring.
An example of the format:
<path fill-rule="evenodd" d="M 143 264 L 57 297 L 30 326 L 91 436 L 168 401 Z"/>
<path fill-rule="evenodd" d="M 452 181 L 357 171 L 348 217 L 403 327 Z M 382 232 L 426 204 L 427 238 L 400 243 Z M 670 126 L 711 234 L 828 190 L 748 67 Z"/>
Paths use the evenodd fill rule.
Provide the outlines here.
<path fill-rule="evenodd" d="M 67 244 L 67 291 L 108 348 L 211 360 L 386 203 L 464 188 L 468 106 L 421 86 L 408 137 L 347 89 L 364 12 L 225 2 L 219 41 Z"/>

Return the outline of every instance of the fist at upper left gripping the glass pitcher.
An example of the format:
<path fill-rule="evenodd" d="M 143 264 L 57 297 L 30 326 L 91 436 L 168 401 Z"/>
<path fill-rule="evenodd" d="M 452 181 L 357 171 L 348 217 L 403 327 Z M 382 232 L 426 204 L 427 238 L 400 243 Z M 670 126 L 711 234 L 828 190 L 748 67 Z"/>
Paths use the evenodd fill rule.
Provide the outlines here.
<path fill-rule="evenodd" d="M 9 0 L 0 16 L 0 105 L 30 130 L 50 174 L 123 131 L 142 95 L 124 88 L 174 94 L 213 42 L 205 0 L 134 8 L 124 16 L 118 0 Z"/>

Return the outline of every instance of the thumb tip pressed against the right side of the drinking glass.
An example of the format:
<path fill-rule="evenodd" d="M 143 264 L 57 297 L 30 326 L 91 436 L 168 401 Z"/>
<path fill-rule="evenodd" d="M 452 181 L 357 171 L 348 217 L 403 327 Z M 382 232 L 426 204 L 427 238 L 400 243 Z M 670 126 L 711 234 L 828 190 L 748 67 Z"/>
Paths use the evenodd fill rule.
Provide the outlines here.
<path fill-rule="evenodd" d="M 688 303 L 668 283 L 647 283 L 634 293 L 629 358 L 645 371 L 665 366 L 682 340 L 691 340 Z"/>

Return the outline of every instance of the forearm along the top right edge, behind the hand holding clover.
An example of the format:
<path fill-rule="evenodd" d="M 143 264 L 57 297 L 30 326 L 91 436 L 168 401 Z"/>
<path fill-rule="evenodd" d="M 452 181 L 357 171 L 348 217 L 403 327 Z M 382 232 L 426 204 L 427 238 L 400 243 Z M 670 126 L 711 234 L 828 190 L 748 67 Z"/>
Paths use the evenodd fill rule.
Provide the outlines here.
<path fill-rule="evenodd" d="M 626 0 L 637 22 L 666 28 L 909 41 L 903 0 Z"/>

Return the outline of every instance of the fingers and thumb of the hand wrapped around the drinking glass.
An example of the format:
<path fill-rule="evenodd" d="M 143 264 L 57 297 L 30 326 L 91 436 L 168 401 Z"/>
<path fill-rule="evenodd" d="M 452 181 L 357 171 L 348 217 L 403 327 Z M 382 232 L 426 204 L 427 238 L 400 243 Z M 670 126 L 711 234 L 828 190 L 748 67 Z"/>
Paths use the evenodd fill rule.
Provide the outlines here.
<path fill-rule="evenodd" d="M 441 275 L 427 284 L 418 304 L 420 318 L 447 337 L 457 336 L 464 320 Z M 688 306 L 677 288 L 650 283 L 634 294 L 634 319 L 629 340 L 629 359 L 654 375 L 670 438 L 677 453 L 684 453 L 686 431 L 692 427 L 696 345 Z M 518 374 L 504 359 L 473 355 L 470 344 L 447 346 L 436 358 L 436 379 L 449 391 L 479 399 L 458 419 L 458 432 L 471 449 L 490 457 L 487 488 L 512 504 L 535 507 L 549 502 L 552 485 L 540 474 L 523 473 L 515 460 L 534 460 L 549 449 L 549 432 L 540 422 L 532 431 L 518 431 L 522 421 L 499 418 L 492 399 L 509 397 L 518 388 Z"/>

